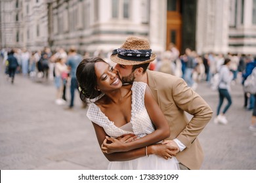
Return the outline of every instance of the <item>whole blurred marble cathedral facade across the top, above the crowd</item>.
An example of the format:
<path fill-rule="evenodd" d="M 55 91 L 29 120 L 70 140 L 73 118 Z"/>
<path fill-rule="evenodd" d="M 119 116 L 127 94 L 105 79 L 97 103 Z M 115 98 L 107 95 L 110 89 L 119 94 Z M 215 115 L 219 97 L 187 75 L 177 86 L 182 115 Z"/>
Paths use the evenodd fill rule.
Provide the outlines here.
<path fill-rule="evenodd" d="M 177 6 L 181 17 L 180 33 L 170 36 L 169 5 Z M 129 35 L 148 38 L 154 52 L 180 37 L 181 52 L 190 47 L 199 54 L 256 54 L 256 0 L 0 1 L 3 48 L 75 45 L 81 52 L 109 52 Z"/>

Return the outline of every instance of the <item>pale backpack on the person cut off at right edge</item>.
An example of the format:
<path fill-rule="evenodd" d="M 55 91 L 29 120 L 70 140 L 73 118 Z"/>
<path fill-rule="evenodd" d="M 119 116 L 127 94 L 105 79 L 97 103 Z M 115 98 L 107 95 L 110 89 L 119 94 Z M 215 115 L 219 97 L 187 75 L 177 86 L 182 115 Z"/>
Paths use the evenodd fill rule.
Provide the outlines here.
<path fill-rule="evenodd" d="M 251 75 L 247 76 L 244 81 L 244 92 L 251 93 L 252 95 L 256 94 L 256 67 L 253 69 Z"/>

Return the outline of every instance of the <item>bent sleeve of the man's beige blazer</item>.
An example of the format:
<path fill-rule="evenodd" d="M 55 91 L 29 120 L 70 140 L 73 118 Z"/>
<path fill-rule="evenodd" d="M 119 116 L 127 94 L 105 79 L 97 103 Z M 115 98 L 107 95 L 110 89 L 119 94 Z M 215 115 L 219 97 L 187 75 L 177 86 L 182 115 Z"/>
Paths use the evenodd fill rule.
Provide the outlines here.
<path fill-rule="evenodd" d="M 205 100 L 187 86 L 186 82 L 179 78 L 172 87 L 173 99 L 176 105 L 192 115 L 192 119 L 177 136 L 177 139 L 189 148 L 190 144 L 198 137 L 209 120 L 213 111 Z"/>

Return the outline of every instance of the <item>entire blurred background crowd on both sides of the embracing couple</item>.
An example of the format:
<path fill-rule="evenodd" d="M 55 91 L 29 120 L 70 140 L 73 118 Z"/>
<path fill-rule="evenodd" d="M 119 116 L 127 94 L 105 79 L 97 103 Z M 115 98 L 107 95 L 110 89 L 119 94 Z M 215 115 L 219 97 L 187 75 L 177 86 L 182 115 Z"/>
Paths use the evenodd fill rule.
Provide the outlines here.
<path fill-rule="evenodd" d="M 70 49 L 67 51 L 64 48 L 56 48 L 56 50 L 52 51 L 49 47 L 39 51 L 30 51 L 26 48 L 2 49 L 1 60 L 3 65 L 5 65 L 5 72 L 12 84 L 14 83 L 16 73 L 31 78 L 37 77 L 43 80 L 54 80 L 54 86 L 56 87 L 55 103 L 57 105 L 66 104 L 66 87 L 67 83 L 70 82 L 71 96 L 68 108 L 71 109 L 74 106 L 75 90 L 78 87 L 75 69 L 79 62 L 83 58 L 91 56 L 103 58 L 114 64 L 110 59 L 112 52 L 104 53 L 102 50 L 96 50 L 91 54 L 86 51 L 83 54 L 78 54 L 76 49 L 74 46 L 70 46 Z M 196 90 L 198 84 L 202 81 L 206 81 L 213 90 L 219 90 L 219 73 L 225 59 L 230 59 L 230 63 L 228 63 L 230 80 L 228 80 L 224 88 L 222 83 L 221 89 L 227 90 L 225 91 L 224 98 L 227 99 L 228 106 L 222 112 L 217 112 L 220 115 L 217 116 L 215 122 L 217 124 L 227 124 L 228 120 L 226 120 L 223 112 L 225 113 L 232 104 L 232 97 L 228 88 L 230 88 L 230 85 L 244 84 L 244 80 L 252 73 L 255 67 L 256 61 L 253 56 L 230 53 L 226 56 L 213 53 L 199 55 L 190 48 L 186 48 L 184 54 L 180 54 L 175 44 L 171 42 L 169 49 L 158 53 L 158 57 L 150 62 L 148 69 L 181 77 L 193 90 Z M 224 99 L 221 93 L 219 93 L 220 102 L 217 111 L 221 110 L 221 104 Z M 86 105 L 84 104 L 84 106 Z M 255 96 L 244 92 L 244 108 L 246 110 L 253 110 L 254 106 Z"/>

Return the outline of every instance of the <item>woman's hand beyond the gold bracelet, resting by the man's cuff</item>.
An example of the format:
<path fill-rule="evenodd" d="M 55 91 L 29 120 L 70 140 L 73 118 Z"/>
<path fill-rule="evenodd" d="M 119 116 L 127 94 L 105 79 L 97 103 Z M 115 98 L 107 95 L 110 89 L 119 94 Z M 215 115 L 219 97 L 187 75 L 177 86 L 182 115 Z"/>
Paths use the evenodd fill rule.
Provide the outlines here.
<path fill-rule="evenodd" d="M 173 158 L 176 156 L 175 152 L 178 148 L 175 146 L 167 146 L 165 144 L 154 144 L 152 146 L 148 146 L 149 154 L 156 154 L 164 159 Z"/>

